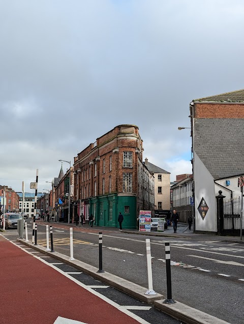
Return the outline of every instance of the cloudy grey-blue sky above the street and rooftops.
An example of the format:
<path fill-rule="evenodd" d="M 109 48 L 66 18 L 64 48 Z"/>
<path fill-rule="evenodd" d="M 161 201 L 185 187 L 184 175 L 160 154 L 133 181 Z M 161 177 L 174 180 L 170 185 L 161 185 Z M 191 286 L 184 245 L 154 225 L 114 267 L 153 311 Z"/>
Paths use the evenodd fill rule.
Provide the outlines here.
<path fill-rule="evenodd" d="M 189 104 L 243 89 L 244 2 L 0 0 L 0 184 L 51 189 L 117 125 L 143 160 L 191 173 Z M 64 162 L 64 171 L 69 164 Z"/>

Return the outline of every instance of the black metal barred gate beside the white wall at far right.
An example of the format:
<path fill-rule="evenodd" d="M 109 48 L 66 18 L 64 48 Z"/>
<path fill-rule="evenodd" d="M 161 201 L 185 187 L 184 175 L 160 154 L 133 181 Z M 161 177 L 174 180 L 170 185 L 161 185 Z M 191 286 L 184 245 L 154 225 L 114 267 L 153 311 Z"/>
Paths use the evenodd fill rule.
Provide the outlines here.
<path fill-rule="evenodd" d="M 240 234 L 240 211 L 241 211 L 240 197 L 224 200 L 224 220 L 223 220 L 224 235 Z"/>

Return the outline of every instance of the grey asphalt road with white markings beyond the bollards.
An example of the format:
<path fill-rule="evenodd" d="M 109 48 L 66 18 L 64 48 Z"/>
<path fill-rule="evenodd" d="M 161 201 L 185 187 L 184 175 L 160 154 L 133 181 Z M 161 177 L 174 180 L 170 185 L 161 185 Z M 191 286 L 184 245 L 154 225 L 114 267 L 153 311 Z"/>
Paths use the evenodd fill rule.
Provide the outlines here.
<path fill-rule="evenodd" d="M 38 243 L 45 246 L 45 225 L 39 224 Z M 53 227 L 55 251 L 70 255 L 69 226 Z M 73 232 L 74 257 L 98 267 L 99 229 L 74 227 Z M 220 242 L 212 236 L 209 240 L 208 235 L 204 238 L 199 241 L 196 235 L 191 239 L 150 237 L 154 290 L 166 295 L 164 243 L 170 242 L 173 299 L 230 323 L 242 324 L 244 246 Z M 147 287 L 143 235 L 103 229 L 103 246 L 103 270 Z"/>

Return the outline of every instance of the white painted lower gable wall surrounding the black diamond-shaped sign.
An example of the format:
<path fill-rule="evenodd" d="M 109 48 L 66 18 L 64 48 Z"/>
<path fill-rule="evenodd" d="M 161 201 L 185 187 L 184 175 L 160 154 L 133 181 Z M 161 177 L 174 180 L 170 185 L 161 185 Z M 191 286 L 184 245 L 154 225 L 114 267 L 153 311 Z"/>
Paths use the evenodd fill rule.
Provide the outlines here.
<path fill-rule="evenodd" d="M 216 189 L 214 178 L 196 152 L 194 152 L 194 183 L 196 231 L 217 232 Z M 208 211 L 204 219 L 202 219 L 198 212 L 202 197 L 208 205 Z"/>

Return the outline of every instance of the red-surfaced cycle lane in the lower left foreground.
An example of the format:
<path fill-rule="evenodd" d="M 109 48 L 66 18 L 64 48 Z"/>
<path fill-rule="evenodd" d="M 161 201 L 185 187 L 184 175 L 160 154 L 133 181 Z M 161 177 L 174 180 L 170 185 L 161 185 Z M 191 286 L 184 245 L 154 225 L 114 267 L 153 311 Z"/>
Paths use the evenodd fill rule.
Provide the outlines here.
<path fill-rule="evenodd" d="M 0 236 L 0 323 L 138 324 L 93 293 Z"/>

